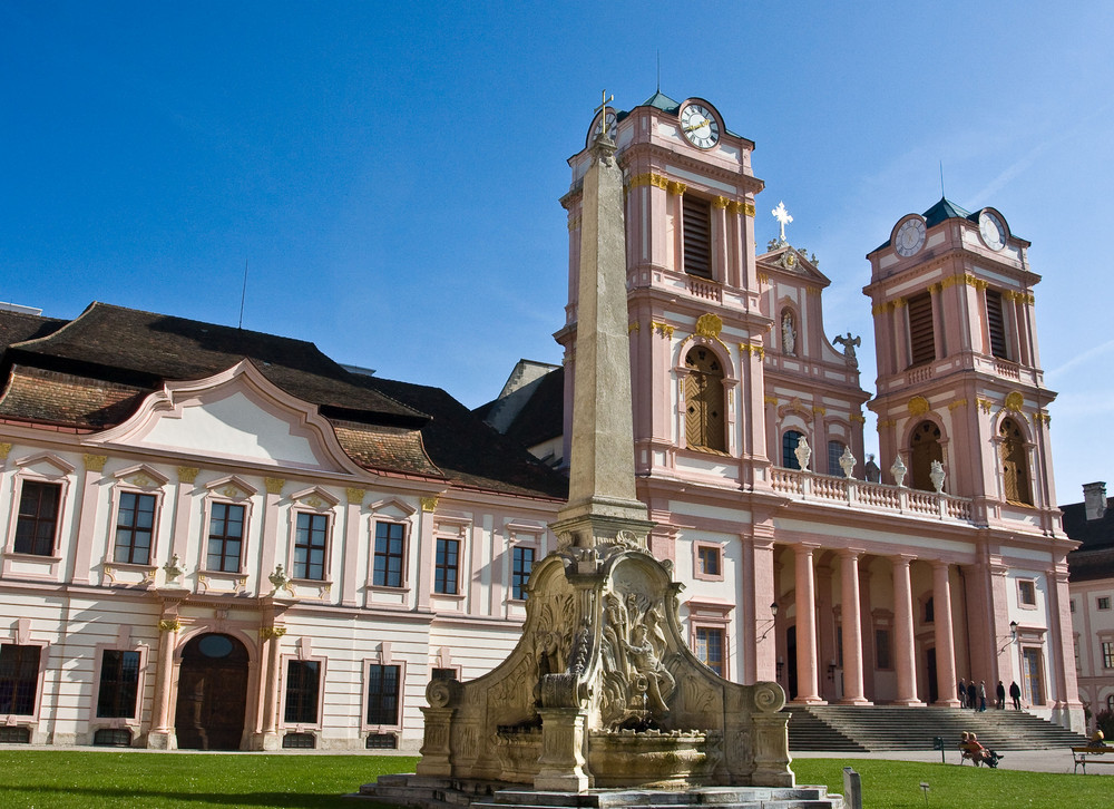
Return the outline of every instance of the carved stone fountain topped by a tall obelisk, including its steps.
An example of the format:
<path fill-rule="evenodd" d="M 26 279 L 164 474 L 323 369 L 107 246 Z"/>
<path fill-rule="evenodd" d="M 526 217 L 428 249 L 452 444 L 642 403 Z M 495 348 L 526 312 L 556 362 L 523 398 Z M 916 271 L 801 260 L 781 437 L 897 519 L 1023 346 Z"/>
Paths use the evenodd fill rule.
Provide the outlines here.
<path fill-rule="evenodd" d="M 730 682 L 690 651 L 682 585 L 647 548 L 614 154 L 605 131 L 584 178 L 569 500 L 551 525 L 557 547 L 527 585 L 521 640 L 478 680 L 430 682 L 417 773 L 380 778 L 363 792 L 422 806 L 585 806 L 589 790 L 594 806 L 682 796 L 839 806 L 823 802 L 822 788 L 793 789 L 781 686 Z M 744 797 L 723 788 L 751 789 Z M 671 790 L 663 795 L 676 800 L 632 789 Z"/>

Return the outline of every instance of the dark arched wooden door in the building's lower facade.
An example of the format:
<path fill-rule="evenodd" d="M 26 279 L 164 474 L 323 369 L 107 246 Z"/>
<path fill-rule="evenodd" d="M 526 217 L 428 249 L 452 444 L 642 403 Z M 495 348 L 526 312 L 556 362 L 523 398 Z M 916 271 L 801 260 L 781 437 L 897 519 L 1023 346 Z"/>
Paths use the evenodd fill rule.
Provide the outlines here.
<path fill-rule="evenodd" d="M 231 635 L 199 635 L 182 650 L 174 730 L 185 750 L 240 750 L 247 709 L 247 649 Z"/>

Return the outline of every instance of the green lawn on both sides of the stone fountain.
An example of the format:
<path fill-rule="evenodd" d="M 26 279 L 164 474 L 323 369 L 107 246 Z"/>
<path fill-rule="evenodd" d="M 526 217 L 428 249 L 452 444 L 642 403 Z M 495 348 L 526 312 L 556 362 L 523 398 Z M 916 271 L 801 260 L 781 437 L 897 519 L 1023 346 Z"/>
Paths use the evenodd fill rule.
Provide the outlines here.
<path fill-rule="evenodd" d="M 244 807 L 316 809 L 350 803 L 341 796 L 389 772 L 413 772 L 395 756 L 167 754 L 0 750 L 0 808 Z M 1101 776 L 1017 772 L 906 761 L 798 759 L 800 783 L 843 791 L 843 766 L 862 777 L 866 809 L 991 809 L 1108 806 L 1114 780 Z"/>

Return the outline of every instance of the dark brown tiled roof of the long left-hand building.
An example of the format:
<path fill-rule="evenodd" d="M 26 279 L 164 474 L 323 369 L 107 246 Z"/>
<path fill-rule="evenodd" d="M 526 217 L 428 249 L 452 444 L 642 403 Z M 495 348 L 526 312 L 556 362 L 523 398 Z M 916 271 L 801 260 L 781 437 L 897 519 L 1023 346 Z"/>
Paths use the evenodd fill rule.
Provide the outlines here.
<path fill-rule="evenodd" d="M 250 359 L 317 405 L 361 466 L 460 486 L 564 498 L 567 481 L 439 388 L 351 373 L 310 342 L 94 303 L 57 321 L 0 313 L 0 418 L 99 430 L 170 380 Z"/>

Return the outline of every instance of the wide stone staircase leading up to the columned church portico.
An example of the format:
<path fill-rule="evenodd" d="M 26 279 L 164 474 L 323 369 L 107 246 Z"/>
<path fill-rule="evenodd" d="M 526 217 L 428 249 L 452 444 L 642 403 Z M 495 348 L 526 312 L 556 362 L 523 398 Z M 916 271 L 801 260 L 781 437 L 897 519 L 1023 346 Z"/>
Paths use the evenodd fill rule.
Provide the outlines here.
<path fill-rule="evenodd" d="M 832 752 L 931 750 L 942 737 L 954 751 L 964 731 L 995 750 L 1047 750 L 1086 744 L 1086 738 L 1025 711 L 959 708 L 791 705 L 789 749 Z"/>

